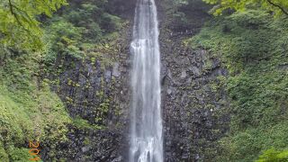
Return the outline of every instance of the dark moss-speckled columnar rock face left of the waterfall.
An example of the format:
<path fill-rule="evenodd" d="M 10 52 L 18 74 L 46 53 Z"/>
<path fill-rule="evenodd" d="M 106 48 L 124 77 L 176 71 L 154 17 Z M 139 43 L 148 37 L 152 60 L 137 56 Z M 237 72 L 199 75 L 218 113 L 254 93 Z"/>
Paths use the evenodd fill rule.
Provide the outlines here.
<path fill-rule="evenodd" d="M 123 14 L 121 8 L 112 11 L 129 23 L 109 47 L 85 51 L 85 58 L 58 55 L 47 76 L 52 81 L 51 89 L 66 103 L 73 123 L 68 126 L 66 141 L 42 143 L 43 159 L 126 161 L 134 5 L 133 1 L 120 4 Z M 49 148 L 58 151 L 50 152 Z"/>

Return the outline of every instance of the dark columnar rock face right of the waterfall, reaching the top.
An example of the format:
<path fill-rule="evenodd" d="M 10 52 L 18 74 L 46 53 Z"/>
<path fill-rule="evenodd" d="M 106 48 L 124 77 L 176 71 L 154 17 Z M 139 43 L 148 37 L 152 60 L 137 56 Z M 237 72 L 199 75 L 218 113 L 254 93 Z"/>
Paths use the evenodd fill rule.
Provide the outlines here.
<path fill-rule="evenodd" d="M 165 161 L 213 161 L 219 151 L 217 140 L 228 130 L 228 104 L 221 85 L 228 72 L 209 51 L 184 43 L 209 15 L 201 6 L 189 9 L 192 24 L 181 26 L 162 1 L 158 5 Z"/>

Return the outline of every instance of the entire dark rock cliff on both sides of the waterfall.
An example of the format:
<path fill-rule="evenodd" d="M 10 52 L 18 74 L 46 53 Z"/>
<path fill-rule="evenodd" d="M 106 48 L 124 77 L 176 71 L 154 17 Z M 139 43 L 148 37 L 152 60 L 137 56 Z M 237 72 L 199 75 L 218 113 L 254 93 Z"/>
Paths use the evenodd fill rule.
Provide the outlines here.
<path fill-rule="evenodd" d="M 228 102 L 221 86 L 221 78 L 228 75 L 227 70 L 209 51 L 190 49 L 184 43 L 200 30 L 209 16 L 197 5 L 196 9 L 188 11 L 193 23 L 174 23 L 168 14 L 171 6 L 166 1 L 157 0 L 164 161 L 213 161 L 218 151 L 217 141 L 228 130 Z M 121 31 L 118 45 L 112 47 L 116 50 L 112 54 L 91 51 L 100 52 L 103 57 L 82 60 L 58 57 L 55 69 L 63 71 L 49 75 L 51 80 L 58 81 L 51 88 L 67 103 L 67 112 L 80 124 L 71 124 L 67 141 L 43 144 L 44 159 L 128 160 L 130 40 L 135 2 L 122 4 L 114 0 L 120 7 L 112 12 L 122 13 L 129 23 Z M 83 124 L 82 120 L 88 124 Z M 102 129 L 95 130 L 94 126 Z M 49 152 L 49 147 L 59 151 Z"/>

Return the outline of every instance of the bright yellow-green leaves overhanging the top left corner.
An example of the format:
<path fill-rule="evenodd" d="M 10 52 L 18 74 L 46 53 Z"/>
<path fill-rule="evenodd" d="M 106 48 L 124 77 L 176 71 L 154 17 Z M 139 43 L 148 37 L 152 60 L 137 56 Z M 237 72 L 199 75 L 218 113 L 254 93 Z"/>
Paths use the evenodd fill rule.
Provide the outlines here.
<path fill-rule="evenodd" d="M 66 0 L 6 0 L 0 3 L 1 42 L 17 49 L 39 49 L 42 31 L 38 16 L 51 16 Z"/>

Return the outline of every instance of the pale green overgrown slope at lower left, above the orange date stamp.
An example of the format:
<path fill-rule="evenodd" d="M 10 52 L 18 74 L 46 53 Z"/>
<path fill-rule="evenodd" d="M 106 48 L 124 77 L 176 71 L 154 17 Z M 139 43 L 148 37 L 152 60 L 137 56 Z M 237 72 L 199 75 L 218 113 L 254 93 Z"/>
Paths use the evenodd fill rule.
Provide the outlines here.
<path fill-rule="evenodd" d="M 48 80 L 37 78 L 35 54 L 8 58 L 0 68 L 0 159 L 28 161 L 28 141 L 65 141 L 70 118 Z"/>

